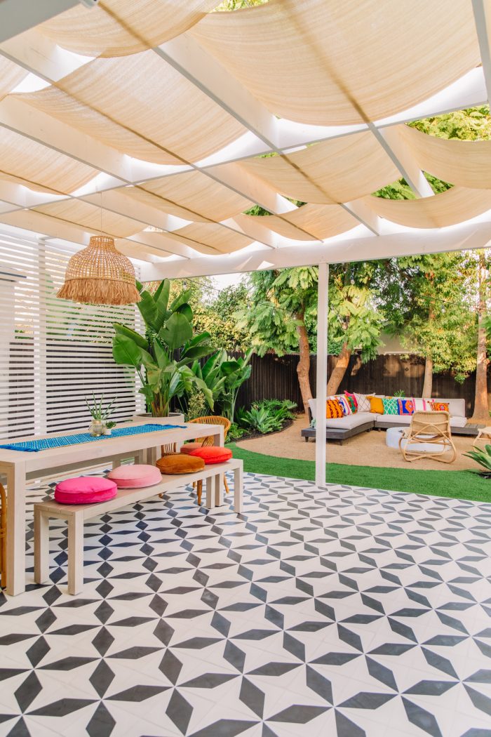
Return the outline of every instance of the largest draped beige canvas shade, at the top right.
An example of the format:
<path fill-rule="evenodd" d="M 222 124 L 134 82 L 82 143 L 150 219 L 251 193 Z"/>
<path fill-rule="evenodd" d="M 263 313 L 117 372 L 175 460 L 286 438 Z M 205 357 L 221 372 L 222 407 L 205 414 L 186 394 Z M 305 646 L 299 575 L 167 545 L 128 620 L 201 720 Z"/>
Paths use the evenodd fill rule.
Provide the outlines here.
<path fill-rule="evenodd" d="M 467 0 L 269 0 L 189 34 L 272 113 L 313 125 L 384 118 L 480 63 Z"/>

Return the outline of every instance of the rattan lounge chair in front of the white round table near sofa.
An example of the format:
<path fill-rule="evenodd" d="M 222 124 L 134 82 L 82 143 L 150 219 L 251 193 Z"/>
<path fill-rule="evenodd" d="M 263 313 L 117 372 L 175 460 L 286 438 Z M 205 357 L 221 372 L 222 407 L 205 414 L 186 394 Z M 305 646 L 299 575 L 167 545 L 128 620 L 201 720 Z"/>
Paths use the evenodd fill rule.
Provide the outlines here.
<path fill-rule="evenodd" d="M 434 453 L 416 450 L 411 446 L 417 444 L 431 444 L 435 446 Z M 399 448 L 405 461 L 419 461 L 421 458 L 431 458 L 441 463 L 453 463 L 457 451 L 452 440 L 450 429 L 450 414 L 448 412 L 414 412 L 411 416 L 411 425 L 405 430 L 399 440 Z"/>

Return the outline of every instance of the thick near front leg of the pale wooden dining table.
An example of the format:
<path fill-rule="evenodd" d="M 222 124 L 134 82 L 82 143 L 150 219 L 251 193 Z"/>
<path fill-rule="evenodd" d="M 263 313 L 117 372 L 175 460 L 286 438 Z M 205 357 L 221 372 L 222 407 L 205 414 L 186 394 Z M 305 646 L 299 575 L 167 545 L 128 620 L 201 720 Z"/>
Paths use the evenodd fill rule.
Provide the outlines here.
<path fill-rule="evenodd" d="M 26 467 L 7 469 L 7 594 L 26 590 Z"/>

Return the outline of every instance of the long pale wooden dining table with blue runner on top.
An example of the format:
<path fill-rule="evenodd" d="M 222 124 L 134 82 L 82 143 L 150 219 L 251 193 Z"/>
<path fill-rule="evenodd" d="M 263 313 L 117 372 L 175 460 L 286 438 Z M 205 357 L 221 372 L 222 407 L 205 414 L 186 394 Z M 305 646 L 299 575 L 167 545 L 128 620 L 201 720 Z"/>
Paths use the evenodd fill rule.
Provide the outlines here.
<path fill-rule="evenodd" d="M 130 425 L 164 425 L 165 418 L 150 417 Z M 51 433 L 49 436 L 16 438 L 13 443 L 56 436 L 77 435 L 84 430 Z M 129 436 L 104 436 L 85 443 L 54 447 L 37 452 L 0 448 L 0 481 L 7 481 L 7 594 L 15 596 L 26 590 L 26 487 L 27 482 L 38 478 L 63 479 L 63 474 L 80 468 L 110 463 L 117 467 L 127 458 L 135 463 L 155 464 L 160 457 L 160 446 L 177 444 L 177 449 L 187 440 L 213 436 L 213 444 L 224 444 L 223 427 L 184 423 L 182 427 L 155 430 Z M 0 441 L 7 444 L 10 441 Z"/>

